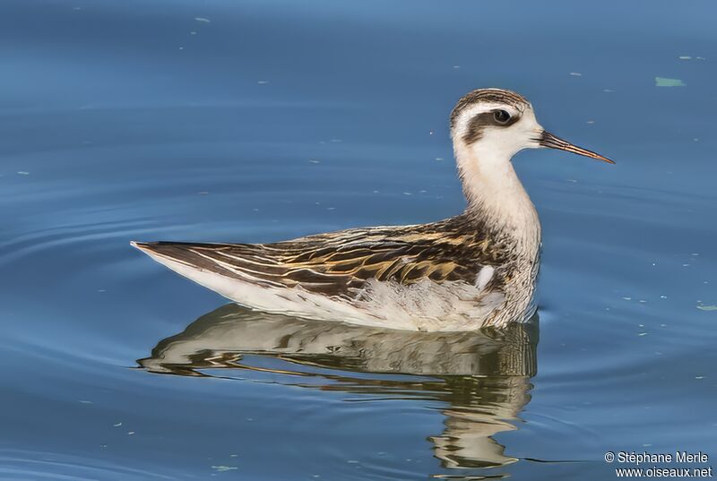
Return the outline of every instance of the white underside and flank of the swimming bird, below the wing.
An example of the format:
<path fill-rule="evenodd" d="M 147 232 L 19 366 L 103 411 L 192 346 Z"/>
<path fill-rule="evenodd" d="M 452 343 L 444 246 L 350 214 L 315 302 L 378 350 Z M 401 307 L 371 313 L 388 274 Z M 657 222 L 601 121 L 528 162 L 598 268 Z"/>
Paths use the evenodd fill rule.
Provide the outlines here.
<path fill-rule="evenodd" d="M 358 300 L 345 302 L 314 294 L 304 288 L 266 288 L 249 281 L 187 266 L 151 251 L 152 259 L 241 305 L 267 313 L 297 315 L 333 322 L 352 322 L 410 331 L 472 331 L 504 302 L 501 292 L 485 292 L 493 268 L 479 273 L 476 285 L 424 279 L 410 286 L 372 280 L 358 293 Z"/>

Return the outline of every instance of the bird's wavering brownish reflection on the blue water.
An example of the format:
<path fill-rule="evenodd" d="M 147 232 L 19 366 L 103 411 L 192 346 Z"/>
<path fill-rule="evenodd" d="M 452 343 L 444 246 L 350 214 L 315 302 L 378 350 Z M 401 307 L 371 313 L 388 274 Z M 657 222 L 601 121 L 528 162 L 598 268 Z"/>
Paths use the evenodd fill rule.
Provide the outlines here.
<path fill-rule="evenodd" d="M 502 330 L 416 332 L 224 305 L 160 340 L 137 362 L 152 373 L 261 370 L 310 377 L 291 382 L 307 388 L 440 401 L 445 428 L 429 438 L 436 458 L 445 468 L 488 468 L 516 460 L 492 436 L 517 429 L 511 421 L 531 399 L 537 317 Z M 281 369 L 255 365 L 256 356 L 280 359 Z"/>

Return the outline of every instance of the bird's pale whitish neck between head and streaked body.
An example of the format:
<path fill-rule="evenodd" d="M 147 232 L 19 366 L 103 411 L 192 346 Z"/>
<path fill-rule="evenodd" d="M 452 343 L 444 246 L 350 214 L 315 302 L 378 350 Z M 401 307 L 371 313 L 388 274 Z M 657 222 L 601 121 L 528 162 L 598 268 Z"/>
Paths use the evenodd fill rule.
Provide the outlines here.
<path fill-rule="evenodd" d="M 455 159 L 463 193 L 468 201 L 466 214 L 500 240 L 513 241 L 528 255 L 540 247 L 540 221 L 523 184 L 515 174 L 514 152 L 454 142 Z"/>

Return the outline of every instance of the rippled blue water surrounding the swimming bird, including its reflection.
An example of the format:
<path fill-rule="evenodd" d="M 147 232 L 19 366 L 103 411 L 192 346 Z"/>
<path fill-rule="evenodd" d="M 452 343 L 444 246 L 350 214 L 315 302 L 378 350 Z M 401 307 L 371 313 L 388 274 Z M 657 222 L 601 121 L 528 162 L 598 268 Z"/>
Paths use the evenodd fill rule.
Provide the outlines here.
<path fill-rule="evenodd" d="M 717 456 L 713 3 L 0 9 L 0 477 L 609 479 L 605 451 Z M 447 116 L 485 86 L 618 161 L 515 159 L 544 230 L 532 327 L 251 314 L 128 245 L 454 215 Z"/>

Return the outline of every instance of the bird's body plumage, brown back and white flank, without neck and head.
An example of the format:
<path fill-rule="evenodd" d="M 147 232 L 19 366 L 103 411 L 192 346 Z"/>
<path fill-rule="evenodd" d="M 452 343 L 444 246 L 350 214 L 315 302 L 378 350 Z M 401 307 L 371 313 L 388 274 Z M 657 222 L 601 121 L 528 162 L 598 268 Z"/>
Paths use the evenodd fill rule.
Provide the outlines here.
<path fill-rule="evenodd" d="M 476 229 L 466 214 L 431 224 L 355 228 L 275 244 L 135 245 L 179 273 L 211 273 L 208 279 L 194 279 L 243 305 L 429 331 L 442 330 L 448 322 L 451 331 L 460 330 L 468 313 L 482 325 L 508 280 L 505 270 L 494 272 L 511 255 L 508 245 L 497 244 L 486 229 Z M 480 271 L 488 275 L 478 280 Z M 272 299 L 264 304 L 255 288 L 275 293 L 276 306 Z M 459 304 L 462 309 L 448 312 Z M 428 317 L 440 324 L 414 319 L 419 313 L 432 313 Z"/>

